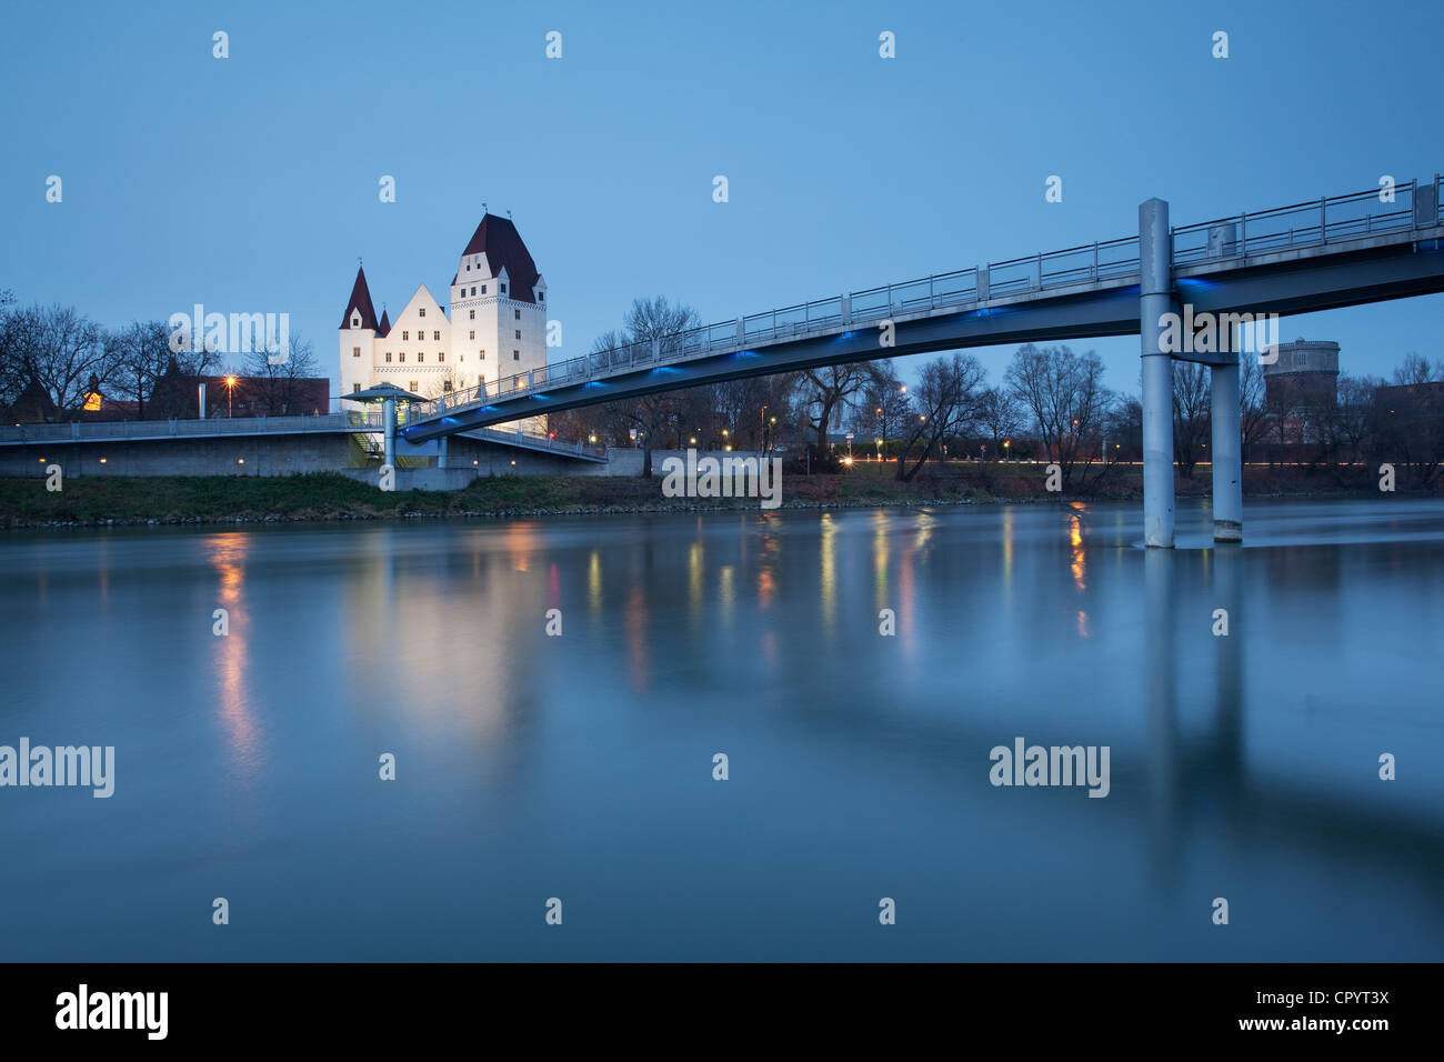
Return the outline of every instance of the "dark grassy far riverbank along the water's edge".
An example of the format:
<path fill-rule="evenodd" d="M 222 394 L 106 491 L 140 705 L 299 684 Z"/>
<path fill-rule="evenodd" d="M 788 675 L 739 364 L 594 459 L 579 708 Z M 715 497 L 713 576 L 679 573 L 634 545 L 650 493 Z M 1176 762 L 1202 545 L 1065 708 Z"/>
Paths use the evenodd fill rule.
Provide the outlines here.
<path fill-rule="evenodd" d="M 783 509 L 992 504 L 1047 500 L 1122 501 L 1142 497 L 1136 467 L 1090 474 L 1082 490 L 1045 490 L 1043 465 L 950 464 L 898 483 L 892 467 L 855 465 L 840 474 L 787 475 Z M 1206 497 L 1204 465 L 1177 478 L 1178 497 Z M 1251 467 L 1245 494 L 1347 497 L 1376 494 L 1365 470 Z M 334 472 L 290 477 L 85 477 L 48 491 L 43 478 L 0 478 L 0 527 L 127 524 L 306 523 L 425 517 L 533 517 L 602 513 L 755 510 L 757 498 L 667 498 L 661 480 L 503 475 L 455 491 L 377 490 Z"/>

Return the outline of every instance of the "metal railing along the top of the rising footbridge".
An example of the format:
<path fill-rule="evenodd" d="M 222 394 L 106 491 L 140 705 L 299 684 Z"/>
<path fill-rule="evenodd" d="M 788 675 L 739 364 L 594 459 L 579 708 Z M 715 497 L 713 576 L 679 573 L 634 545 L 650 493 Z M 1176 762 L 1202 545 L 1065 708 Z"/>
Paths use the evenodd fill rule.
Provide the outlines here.
<path fill-rule="evenodd" d="M 1396 233 L 1415 224 L 1441 224 L 1444 185 L 1440 176 L 1431 184 L 1435 204 L 1431 217 L 1417 218 L 1414 204 L 1418 185 L 1409 181 L 1393 188 L 1392 199 L 1386 197 L 1382 201 L 1379 191 L 1353 192 L 1174 228 L 1173 262 L 1175 266 L 1191 264 L 1249 253 L 1321 246 L 1373 233 Z M 427 419 L 482 406 L 490 399 L 513 397 L 560 383 L 599 381 L 622 371 L 660 368 L 712 353 L 744 350 L 752 344 L 804 338 L 813 332 L 832 334 L 846 325 L 868 325 L 905 314 L 969 306 L 998 296 L 1129 277 L 1138 270 L 1138 237 L 1128 236 L 1025 259 L 1009 259 L 982 269 L 936 273 L 918 280 L 748 314 L 732 321 L 692 328 L 666 337 L 657 344 L 638 342 L 583 354 L 544 368 L 503 377 L 490 386 L 482 384 L 422 403 L 416 407 L 416 418 Z M 539 406 L 537 412 L 544 409 Z"/>

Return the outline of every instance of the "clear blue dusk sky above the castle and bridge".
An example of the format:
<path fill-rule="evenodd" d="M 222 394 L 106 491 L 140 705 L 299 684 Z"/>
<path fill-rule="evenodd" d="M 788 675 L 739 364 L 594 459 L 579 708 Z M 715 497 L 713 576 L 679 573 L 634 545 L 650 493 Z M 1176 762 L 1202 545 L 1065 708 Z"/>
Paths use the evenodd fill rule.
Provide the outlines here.
<path fill-rule="evenodd" d="M 547 280 L 557 360 L 640 295 L 721 321 L 1128 236 L 1154 195 L 1183 225 L 1444 168 L 1438 3 L 292 0 L 4 22 L 0 288 L 107 325 L 284 311 L 334 380 L 357 257 L 378 312 L 420 283 L 445 305 L 484 202 Z M 1441 311 L 1281 332 L 1385 376 L 1444 357 Z M 1079 345 L 1136 390 L 1136 338 Z M 978 351 L 995 377 L 1009 353 Z"/>

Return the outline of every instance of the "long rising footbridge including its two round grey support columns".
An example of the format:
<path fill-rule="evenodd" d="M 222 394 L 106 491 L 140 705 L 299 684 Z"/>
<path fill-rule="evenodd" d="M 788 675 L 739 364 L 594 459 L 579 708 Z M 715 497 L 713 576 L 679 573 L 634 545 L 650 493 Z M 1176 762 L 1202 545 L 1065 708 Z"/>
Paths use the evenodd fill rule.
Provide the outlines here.
<path fill-rule="evenodd" d="M 1168 225 L 1167 202 L 1148 199 L 1138 208 L 1138 236 L 596 351 L 423 403 L 401 435 L 423 442 L 599 402 L 849 361 L 1139 335 L 1144 540 L 1174 543 L 1173 361 L 1188 360 L 1210 366 L 1214 539 L 1236 542 L 1243 533 L 1238 345 L 1223 354 L 1178 353 L 1170 341 L 1177 321 L 1217 325 L 1225 314 L 1307 314 L 1441 292 L 1441 237 L 1437 173 L 1183 228 Z"/>

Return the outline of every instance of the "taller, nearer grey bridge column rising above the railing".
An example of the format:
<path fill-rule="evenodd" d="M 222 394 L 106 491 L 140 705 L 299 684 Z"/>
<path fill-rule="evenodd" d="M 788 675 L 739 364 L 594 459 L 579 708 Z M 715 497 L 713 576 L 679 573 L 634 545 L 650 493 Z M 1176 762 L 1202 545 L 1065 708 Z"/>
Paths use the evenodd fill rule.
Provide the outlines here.
<path fill-rule="evenodd" d="M 1173 357 L 1162 351 L 1162 318 L 1173 311 L 1168 204 L 1138 207 L 1138 331 L 1144 360 L 1144 542 L 1173 549 Z"/>

